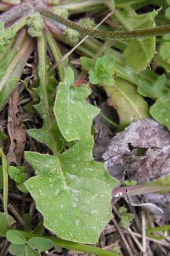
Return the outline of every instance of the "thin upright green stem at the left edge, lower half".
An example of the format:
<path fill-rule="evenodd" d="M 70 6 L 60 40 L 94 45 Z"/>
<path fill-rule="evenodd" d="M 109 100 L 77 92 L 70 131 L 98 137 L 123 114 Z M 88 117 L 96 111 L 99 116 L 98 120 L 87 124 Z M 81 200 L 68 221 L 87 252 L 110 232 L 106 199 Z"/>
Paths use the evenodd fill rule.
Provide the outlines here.
<path fill-rule="evenodd" d="M 2 158 L 2 172 L 3 172 L 3 209 L 7 222 L 9 223 L 9 215 L 7 210 L 8 204 L 8 164 L 5 154 L 3 153 L 2 148 L 0 148 L 0 156 Z"/>

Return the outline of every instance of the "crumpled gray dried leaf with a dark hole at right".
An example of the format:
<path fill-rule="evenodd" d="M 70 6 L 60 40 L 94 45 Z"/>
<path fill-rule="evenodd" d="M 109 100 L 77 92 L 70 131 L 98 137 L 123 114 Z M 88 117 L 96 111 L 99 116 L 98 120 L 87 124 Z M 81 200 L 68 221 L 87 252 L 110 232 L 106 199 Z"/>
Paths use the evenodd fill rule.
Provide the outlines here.
<path fill-rule="evenodd" d="M 138 148 L 146 148 L 147 151 L 138 156 Z M 114 176 L 116 170 L 121 175 L 126 171 L 129 179 L 136 180 L 137 184 L 165 177 L 170 174 L 170 133 L 154 119 L 138 120 L 113 137 L 103 158 L 110 175 Z M 167 205 L 162 205 L 162 201 L 165 203 L 162 196 L 152 195 L 145 196 L 148 205 L 143 207 L 150 208 L 152 203 L 158 204 L 162 209 L 170 208 L 169 193 L 166 195 Z M 152 209 L 154 207 L 151 207 L 151 212 Z"/>

